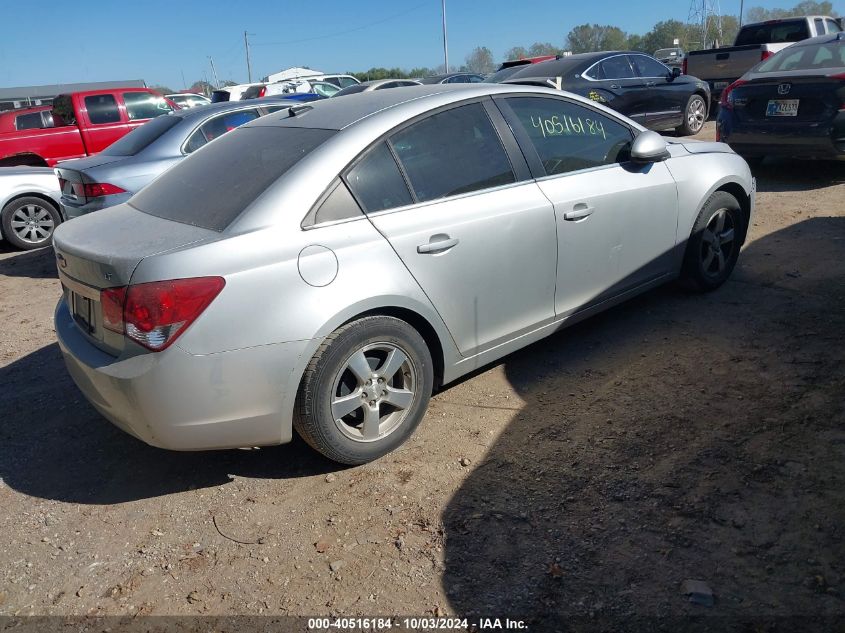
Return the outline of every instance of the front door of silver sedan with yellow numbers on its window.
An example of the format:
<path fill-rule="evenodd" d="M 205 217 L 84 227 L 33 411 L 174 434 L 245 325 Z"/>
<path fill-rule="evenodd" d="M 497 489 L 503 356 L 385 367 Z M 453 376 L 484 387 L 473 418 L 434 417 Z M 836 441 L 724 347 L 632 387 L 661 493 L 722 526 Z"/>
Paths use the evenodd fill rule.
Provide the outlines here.
<path fill-rule="evenodd" d="M 497 98 L 554 205 L 555 312 L 576 313 L 671 271 L 678 222 L 664 163 L 630 163 L 629 127 L 565 98 Z"/>

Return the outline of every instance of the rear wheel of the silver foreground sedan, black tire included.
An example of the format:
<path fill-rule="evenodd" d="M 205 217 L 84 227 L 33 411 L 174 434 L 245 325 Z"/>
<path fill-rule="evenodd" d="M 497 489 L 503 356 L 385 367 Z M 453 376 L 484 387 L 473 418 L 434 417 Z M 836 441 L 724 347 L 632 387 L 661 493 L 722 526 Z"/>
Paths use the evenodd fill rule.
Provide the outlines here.
<path fill-rule="evenodd" d="M 391 356 L 393 350 L 400 354 Z M 368 363 L 364 371 L 371 372 L 369 382 L 352 369 L 362 367 L 354 362 L 360 362 L 359 354 Z M 405 364 L 394 370 L 392 365 L 402 358 Z M 370 462 L 411 436 L 425 415 L 433 384 L 431 354 L 413 327 L 393 317 L 364 317 L 335 330 L 314 354 L 297 394 L 294 428 L 331 460 L 351 465 Z M 388 392 L 401 394 L 409 404 L 395 407 Z M 335 418 L 335 413 L 349 407 L 355 408 Z M 374 417 L 367 417 L 368 412 Z M 377 435 L 370 431 L 365 436 L 366 420 L 371 421 L 369 429 L 378 429 Z"/>

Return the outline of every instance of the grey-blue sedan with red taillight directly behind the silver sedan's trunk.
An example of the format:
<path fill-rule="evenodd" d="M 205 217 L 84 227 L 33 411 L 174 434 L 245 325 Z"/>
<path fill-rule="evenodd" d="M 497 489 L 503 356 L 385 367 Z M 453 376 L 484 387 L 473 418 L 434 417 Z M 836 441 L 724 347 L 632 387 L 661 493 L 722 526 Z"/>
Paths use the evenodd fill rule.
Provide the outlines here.
<path fill-rule="evenodd" d="M 282 98 L 220 103 L 160 116 L 94 156 L 56 166 L 67 218 L 126 202 L 180 160 L 238 126 L 290 107 Z"/>

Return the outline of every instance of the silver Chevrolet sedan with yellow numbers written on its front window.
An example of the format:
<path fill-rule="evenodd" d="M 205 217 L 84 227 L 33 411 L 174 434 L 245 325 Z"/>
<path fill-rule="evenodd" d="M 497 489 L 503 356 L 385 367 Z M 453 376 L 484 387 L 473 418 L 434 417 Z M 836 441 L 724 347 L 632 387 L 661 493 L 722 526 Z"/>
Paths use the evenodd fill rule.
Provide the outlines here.
<path fill-rule="evenodd" d="M 59 227 L 55 324 L 149 444 L 395 449 L 432 389 L 629 297 L 731 274 L 747 164 L 580 97 L 381 90 L 262 117 Z"/>

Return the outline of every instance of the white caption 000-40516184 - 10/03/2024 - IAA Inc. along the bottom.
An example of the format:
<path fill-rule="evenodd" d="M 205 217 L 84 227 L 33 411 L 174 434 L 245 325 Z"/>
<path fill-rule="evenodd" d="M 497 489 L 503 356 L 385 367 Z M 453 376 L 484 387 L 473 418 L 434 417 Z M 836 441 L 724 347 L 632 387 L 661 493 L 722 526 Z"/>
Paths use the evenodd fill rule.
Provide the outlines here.
<path fill-rule="evenodd" d="M 406 631 L 484 631 L 484 630 L 526 630 L 528 625 L 524 620 L 510 618 L 478 618 L 470 621 L 467 618 L 433 618 L 433 617 L 403 617 L 403 618 L 309 618 L 309 631 L 389 631 L 391 629 Z"/>

